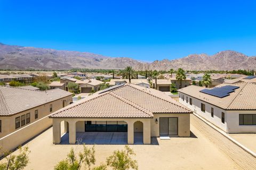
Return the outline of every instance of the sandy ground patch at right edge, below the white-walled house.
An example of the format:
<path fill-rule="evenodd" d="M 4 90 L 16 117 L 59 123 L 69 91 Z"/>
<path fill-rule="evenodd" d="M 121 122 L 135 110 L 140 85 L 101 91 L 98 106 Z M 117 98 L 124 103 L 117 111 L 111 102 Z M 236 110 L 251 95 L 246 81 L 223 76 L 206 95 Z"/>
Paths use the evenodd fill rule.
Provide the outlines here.
<path fill-rule="evenodd" d="M 246 148 L 250 149 L 256 153 L 256 134 L 246 133 L 246 134 L 228 134 L 231 138 L 241 143 Z"/>

